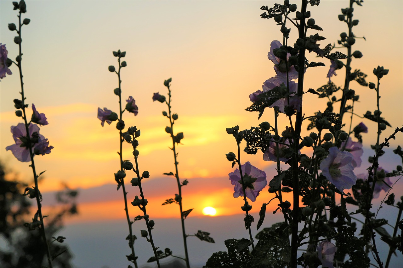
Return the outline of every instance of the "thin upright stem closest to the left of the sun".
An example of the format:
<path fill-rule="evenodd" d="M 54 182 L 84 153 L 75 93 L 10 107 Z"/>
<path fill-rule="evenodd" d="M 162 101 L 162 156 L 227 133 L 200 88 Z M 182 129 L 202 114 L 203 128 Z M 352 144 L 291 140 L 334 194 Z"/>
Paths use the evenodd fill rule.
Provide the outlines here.
<path fill-rule="evenodd" d="M 179 210 L 181 212 L 181 224 L 182 224 L 182 236 L 183 236 L 183 247 L 185 248 L 185 262 L 186 262 L 186 267 L 190 268 L 189 264 L 189 254 L 187 252 L 187 235 L 185 231 L 185 219 L 183 218 L 183 208 L 182 208 L 182 185 L 181 181 L 179 180 L 179 172 L 178 172 L 178 161 L 177 161 L 177 153 L 176 153 L 176 148 L 175 148 L 175 141 L 174 141 L 174 136 L 173 136 L 173 125 L 174 122 L 172 121 L 172 116 L 171 116 L 171 90 L 168 85 L 168 102 L 166 103 L 168 105 L 168 118 L 170 122 L 170 127 L 171 127 L 171 137 L 172 137 L 172 151 L 174 153 L 174 163 L 175 163 L 175 177 L 177 179 L 177 184 L 178 184 L 178 191 L 179 191 Z"/>

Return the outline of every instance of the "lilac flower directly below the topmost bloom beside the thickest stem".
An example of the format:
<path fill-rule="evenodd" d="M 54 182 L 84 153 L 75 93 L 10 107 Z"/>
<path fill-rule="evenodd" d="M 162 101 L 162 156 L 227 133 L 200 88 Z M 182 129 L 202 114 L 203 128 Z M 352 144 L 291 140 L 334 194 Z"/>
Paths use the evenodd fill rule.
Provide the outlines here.
<path fill-rule="evenodd" d="M 264 81 L 262 85 L 263 92 L 270 91 L 274 89 L 275 87 L 282 87 L 282 79 L 278 76 L 274 76 L 272 78 L 269 78 L 268 80 Z M 275 101 L 272 105 L 270 105 L 270 108 L 277 107 L 278 110 L 282 113 L 285 113 L 284 108 L 285 106 L 291 106 L 295 110 L 300 110 L 302 101 L 301 98 L 299 98 L 297 94 L 297 89 L 298 89 L 298 83 L 294 81 L 289 81 L 289 92 L 294 92 L 295 94 L 290 95 L 290 97 L 285 97 L 278 99 Z M 286 94 L 286 93 L 285 93 Z M 250 96 L 249 96 L 250 98 Z"/>

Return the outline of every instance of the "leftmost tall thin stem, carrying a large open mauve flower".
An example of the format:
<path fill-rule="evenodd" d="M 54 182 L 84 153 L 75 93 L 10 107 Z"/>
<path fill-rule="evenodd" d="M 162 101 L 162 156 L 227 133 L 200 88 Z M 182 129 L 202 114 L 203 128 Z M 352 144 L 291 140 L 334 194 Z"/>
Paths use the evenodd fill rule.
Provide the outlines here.
<path fill-rule="evenodd" d="M 18 21 L 19 21 L 19 37 L 20 40 L 21 39 L 21 12 L 18 15 Z M 18 69 L 19 69 L 19 73 L 20 73 L 20 82 L 21 82 L 21 100 L 22 100 L 22 110 L 23 110 L 23 119 L 25 122 L 25 130 L 27 132 L 27 140 L 30 140 L 30 135 L 29 135 L 29 123 L 27 121 L 27 115 L 25 113 L 25 95 L 24 95 L 24 82 L 23 82 L 23 71 L 22 71 L 22 49 L 21 49 L 21 42 L 19 43 L 19 57 L 20 57 L 20 62 L 18 63 Z M 31 142 L 29 142 L 29 156 L 31 157 L 31 168 L 32 168 L 32 172 L 33 172 L 33 179 L 34 179 L 34 183 L 35 183 L 35 198 L 36 198 L 36 204 L 38 206 L 38 215 L 39 215 L 39 220 L 41 222 L 41 227 L 39 227 L 41 235 L 42 235 L 42 239 L 44 240 L 44 245 L 45 245 L 45 251 L 46 251 L 46 256 L 48 258 L 48 264 L 49 267 L 52 268 L 52 259 L 50 256 L 50 250 L 49 250 L 49 245 L 48 245 L 48 240 L 46 239 L 46 233 L 45 233 L 45 225 L 44 225 L 44 217 L 42 215 L 42 204 L 41 204 L 41 196 L 40 196 L 40 192 L 39 192 L 39 188 L 38 188 L 38 175 L 36 173 L 35 170 L 35 162 L 33 161 L 33 157 L 35 154 L 33 154 L 32 151 L 32 144 Z"/>

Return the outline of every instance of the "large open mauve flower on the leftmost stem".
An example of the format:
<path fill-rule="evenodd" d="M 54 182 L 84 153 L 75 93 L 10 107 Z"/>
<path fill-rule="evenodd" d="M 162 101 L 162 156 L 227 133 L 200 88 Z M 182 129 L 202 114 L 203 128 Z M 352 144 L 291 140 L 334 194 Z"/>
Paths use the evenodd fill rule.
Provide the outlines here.
<path fill-rule="evenodd" d="M 53 146 L 49 146 L 48 139 L 39 134 L 39 127 L 36 124 L 30 123 L 28 126 L 29 137 L 33 137 L 33 133 L 38 134 L 38 142 L 33 144 L 33 152 L 37 155 L 49 154 Z M 15 144 L 6 147 L 6 150 L 11 150 L 12 154 L 21 162 L 31 161 L 29 149 L 26 144 L 27 130 L 25 124 L 19 123 L 17 126 L 11 127 L 12 138 Z"/>

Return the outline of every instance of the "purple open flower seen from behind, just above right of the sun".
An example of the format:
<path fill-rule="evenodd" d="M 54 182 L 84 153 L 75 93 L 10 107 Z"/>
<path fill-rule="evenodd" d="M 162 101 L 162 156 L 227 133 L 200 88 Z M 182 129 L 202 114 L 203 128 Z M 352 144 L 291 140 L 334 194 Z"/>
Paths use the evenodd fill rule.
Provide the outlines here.
<path fill-rule="evenodd" d="M 252 202 L 255 202 L 259 192 L 262 191 L 267 185 L 266 172 L 261 171 L 257 167 L 253 167 L 249 162 L 241 165 L 241 168 L 242 172 L 244 173 L 243 181 L 245 184 L 246 197 Z M 231 180 L 231 184 L 235 185 L 234 197 L 237 198 L 239 196 L 243 196 L 243 186 L 239 169 L 235 169 L 234 172 L 231 172 L 228 175 L 229 179 Z"/>

